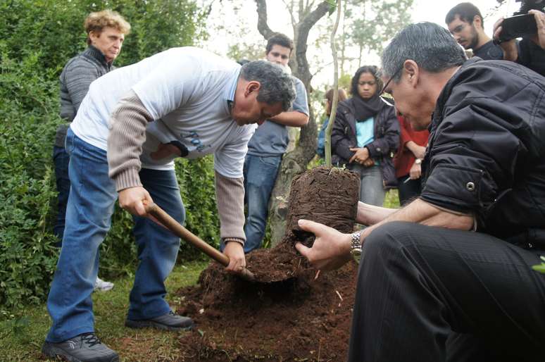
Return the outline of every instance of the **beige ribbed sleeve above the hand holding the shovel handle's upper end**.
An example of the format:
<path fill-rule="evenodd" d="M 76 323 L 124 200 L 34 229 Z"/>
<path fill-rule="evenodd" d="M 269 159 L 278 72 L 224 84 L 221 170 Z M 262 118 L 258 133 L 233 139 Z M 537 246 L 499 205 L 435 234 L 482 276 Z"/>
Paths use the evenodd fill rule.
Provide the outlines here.
<path fill-rule="evenodd" d="M 110 118 L 108 135 L 108 175 L 115 189 L 142 186 L 138 175 L 146 125 L 153 118 L 132 90 L 120 99 Z"/>

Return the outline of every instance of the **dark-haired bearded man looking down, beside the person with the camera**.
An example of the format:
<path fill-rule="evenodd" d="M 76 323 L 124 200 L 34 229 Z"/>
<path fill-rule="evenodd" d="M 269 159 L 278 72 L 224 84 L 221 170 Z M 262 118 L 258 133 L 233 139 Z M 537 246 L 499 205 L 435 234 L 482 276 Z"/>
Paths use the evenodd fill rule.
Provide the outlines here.
<path fill-rule="evenodd" d="M 484 20 L 477 6 L 471 3 L 454 6 L 446 14 L 445 23 L 456 42 L 466 50 L 472 49 L 473 56 L 485 61 L 503 59 L 501 47 L 484 33 Z"/>

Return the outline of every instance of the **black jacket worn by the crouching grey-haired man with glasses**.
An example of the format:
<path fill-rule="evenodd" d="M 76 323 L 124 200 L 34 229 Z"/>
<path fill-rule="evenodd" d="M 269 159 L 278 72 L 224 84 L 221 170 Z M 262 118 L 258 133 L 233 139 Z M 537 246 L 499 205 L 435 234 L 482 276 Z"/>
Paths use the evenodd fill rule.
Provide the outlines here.
<path fill-rule="evenodd" d="M 422 168 L 423 200 L 474 213 L 478 231 L 545 246 L 545 78 L 467 61 L 437 99 Z"/>

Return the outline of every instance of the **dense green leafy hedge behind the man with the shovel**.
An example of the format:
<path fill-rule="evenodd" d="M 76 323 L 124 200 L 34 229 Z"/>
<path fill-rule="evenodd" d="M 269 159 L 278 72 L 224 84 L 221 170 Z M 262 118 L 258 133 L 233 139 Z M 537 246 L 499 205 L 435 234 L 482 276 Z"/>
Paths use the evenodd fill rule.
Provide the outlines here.
<path fill-rule="evenodd" d="M 51 159 L 58 117 L 58 76 L 86 47 L 83 21 L 111 8 L 132 25 L 115 65 L 123 66 L 202 37 L 192 0 L 13 0 L 0 2 L 0 305 L 43 301 L 58 258 L 52 234 L 56 187 Z M 187 227 L 218 243 L 213 161 L 178 161 Z M 101 246 L 101 274 L 132 273 L 132 220 L 116 210 Z M 182 258 L 198 253 L 182 246 Z"/>

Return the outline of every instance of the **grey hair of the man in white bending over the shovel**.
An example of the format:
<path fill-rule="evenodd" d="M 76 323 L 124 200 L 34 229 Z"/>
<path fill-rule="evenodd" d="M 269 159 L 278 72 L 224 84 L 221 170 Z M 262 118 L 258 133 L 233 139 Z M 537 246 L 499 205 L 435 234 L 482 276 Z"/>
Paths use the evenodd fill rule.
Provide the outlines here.
<path fill-rule="evenodd" d="M 282 111 L 292 108 L 295 99 L 295 87 L 292 75 L 280 65 L 269 61 L 251 61 L 242 65 L 240 76 L 251 82 L 261 84 L 257 100 L 266 104 L 282 104 Z"/>

